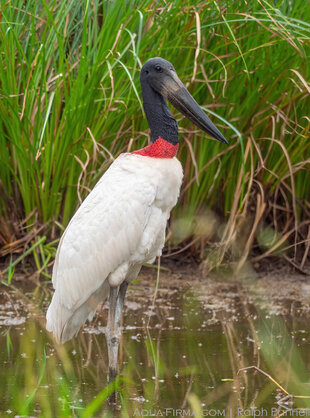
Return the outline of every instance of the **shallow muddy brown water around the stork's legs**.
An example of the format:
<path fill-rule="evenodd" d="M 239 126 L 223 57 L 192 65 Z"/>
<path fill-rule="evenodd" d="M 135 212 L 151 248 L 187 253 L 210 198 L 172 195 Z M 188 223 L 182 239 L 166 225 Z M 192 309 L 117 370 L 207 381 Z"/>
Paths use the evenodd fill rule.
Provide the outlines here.
<path fill-rule="evenodd" d="M 60 346 L 44 329 L 46 289 L 3 288 L 0 415 L 310 416 L 307 278 L 163 273 L 153 303 L 155 276 L 147 271 L 128 291 L 113 409 L 107 308 Z"/>

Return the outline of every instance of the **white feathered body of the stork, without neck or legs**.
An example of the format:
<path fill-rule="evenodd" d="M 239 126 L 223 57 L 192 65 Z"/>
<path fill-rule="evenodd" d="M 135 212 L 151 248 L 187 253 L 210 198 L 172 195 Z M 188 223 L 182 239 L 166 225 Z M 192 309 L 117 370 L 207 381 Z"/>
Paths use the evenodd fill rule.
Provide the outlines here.
<path fill-rule="evenodd" d="M 177 158 L 121 154 L 67 226 L 53 269 L 46 328 L 71 339 L 98 303 L 161 255 L 182 182 Z"/>

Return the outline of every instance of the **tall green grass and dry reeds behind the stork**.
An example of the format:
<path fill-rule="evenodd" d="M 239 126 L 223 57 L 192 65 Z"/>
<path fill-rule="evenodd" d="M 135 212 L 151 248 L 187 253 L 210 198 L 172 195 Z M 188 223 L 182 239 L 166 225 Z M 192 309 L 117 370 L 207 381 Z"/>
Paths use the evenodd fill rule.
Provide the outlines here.
<path fill-rule="evenodd" d="M 216 242 L 217 259 L 229 253 L 241 261 L 256 246 L 257 262 L 281 249 L 303 268 L 310 228 L 304 0 L 0 4 L 2 254 L 29 248 L 36 234 L 25 237 L 42 225 L 40 236 L 57 238 L 113 158 L 147 143 L 139 70 L 162 56 L 230 143 L 206 138 L 175 113 L 185 180 L 173 220 L 189 226 L 171 245 L 194 236 L 203 257 L 206 243 Z M 210 213 L 216 227 L 197 233 Z"/>

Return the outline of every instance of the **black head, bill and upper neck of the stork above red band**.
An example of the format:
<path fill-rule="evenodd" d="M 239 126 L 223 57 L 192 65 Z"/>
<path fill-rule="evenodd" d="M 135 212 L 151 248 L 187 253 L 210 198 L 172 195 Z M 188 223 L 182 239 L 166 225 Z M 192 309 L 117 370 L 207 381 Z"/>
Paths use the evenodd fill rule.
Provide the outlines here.
<path fill-rule="evenodd" d="M 167 99 L 204 132 L 228 144 L 186 89 L 169 61 L 159 57 L 150 58 L 141 69 L 140 81 L 143 107 L 151 129 L 152 142 L 158 137 L 174 145 L 179 142 L 178 125 L 167 106 Z"/>

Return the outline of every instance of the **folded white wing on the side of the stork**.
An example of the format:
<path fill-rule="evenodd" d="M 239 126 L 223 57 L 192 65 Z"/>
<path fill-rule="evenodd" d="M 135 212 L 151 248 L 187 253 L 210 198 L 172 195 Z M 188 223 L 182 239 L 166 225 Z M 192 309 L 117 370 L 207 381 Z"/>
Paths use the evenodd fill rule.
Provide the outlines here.
<path fill-rule="evenodd" d="M 85 199 L 61 238 L 53 269 L 46 327 L 56 339 L 72 338 L 105 299 L 109 275 L 139 258 L 155 198 L 154 178 L 137 175 L 119 157 Z"/>

